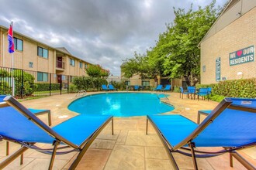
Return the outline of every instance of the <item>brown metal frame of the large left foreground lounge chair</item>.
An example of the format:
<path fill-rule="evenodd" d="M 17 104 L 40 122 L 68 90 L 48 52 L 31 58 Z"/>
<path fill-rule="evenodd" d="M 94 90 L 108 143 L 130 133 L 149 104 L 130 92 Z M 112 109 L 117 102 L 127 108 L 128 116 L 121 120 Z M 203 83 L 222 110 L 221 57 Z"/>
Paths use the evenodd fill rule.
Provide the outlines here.
<path fill-rule="evenodd" d="M 81 142 L 81 145 L 75 145 L 71 141 L 68 141 L 66 138 L 61 137 L 61 135 L 57 134 L 54 130 L 52 130 L 49 126 L 47 126 L 47 124 L 44 124 L 43 121 L 40 121 L 40 119 L 36 117 L 34 114 L 32 114 L 29 110 L 27 110 L 26 107 L 22 106 L 22 104 L 19 104 L 19 102 L 15 98 L 11 96 L 5 97 L 5 104 L 0 104 L 0 107 L 6 107 L 6 106 L 12 106 L 16 110 L 19 110 L 21 114 L 27 117 L 30 121 L 33 121 L 34 124 L 36 124 L 43 131 L 47 132 L 47 134 L 55 138 L 55 140 L 53 141 L 54 148 L 52 150 L 52 154 L 51 154 L 52 156 L 50 158 L 49 169 L 53 168 L 54 158 L 55 158 L 55 155 L 57 154 L 57 145 L 59 145 L 60 143 L 64 143 L 70 148 L 73 148 L 72 151 L 79 151 L 77 158 L 74 159 L 74 162 L 71 164 L 69 168 L 69 169 L 74 169 L 77 167 L 78 163 L 81 161 L 81 158 L 83 157 L 83 155 L 85 155 L 85 152 L 88 150 L 89 146 L 92 144 L 95 138 L 102 131 L 102 129 L 106 127 L 106 125 L 110 121 L 112 121 L 112 134 L 114 134 L 113 117 L 109 117 L 109 119 L 107 119 L 89 138 L 86 138 L 85 141 Z M 22 143 L 14 139 L 7 138 L 5 136 L 1 136 L 1 138 L 6 141 Z M 25 145 L 22 146 L 22 148 L 16 151 L 13 155 L 10 155 L 9 158 L 5 159 L 5 161 L 0 163 L 0 169 L 4 168 L 6 165 L 9 165 L 9 163 L 12 162 L 15 158 L 19 157 L 19 155 L 22 155 L 22 153 L 27 150 L 26 145 L 34 145 L 35 143 L 24 143 L 24 144 Z"/>

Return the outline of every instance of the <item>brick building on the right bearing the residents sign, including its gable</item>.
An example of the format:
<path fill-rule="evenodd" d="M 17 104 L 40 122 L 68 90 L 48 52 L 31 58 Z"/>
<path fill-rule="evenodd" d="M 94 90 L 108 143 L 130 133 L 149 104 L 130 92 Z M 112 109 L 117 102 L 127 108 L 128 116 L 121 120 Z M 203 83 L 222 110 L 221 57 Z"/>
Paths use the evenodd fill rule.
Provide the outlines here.
<path fill-rule="evenodd" d="M 256 0 L 230 0 L 199 44 L 201 83 L 255 77 Z"/>

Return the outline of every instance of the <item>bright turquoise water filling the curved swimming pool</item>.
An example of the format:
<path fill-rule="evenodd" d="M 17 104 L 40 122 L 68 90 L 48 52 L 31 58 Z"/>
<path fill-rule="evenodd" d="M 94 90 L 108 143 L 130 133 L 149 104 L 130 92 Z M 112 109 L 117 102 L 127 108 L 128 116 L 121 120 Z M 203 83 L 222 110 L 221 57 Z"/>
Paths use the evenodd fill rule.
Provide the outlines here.
<path fill-rule="evenodd" d="M 174 109 L 158 97 L 156 93 L 100 93 L 74 100 L 68 109 L 79 114 L 112 114 L 115 117 L 161 114 Z"/>

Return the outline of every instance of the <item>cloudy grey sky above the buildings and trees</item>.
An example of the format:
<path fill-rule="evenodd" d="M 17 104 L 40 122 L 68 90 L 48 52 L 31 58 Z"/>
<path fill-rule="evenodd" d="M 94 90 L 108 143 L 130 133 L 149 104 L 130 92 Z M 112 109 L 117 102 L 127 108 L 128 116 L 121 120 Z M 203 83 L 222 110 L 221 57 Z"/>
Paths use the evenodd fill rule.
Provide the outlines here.
<path fill-rule="evenodd" d="M 227 0 L 216 0 L 223 5 Z M 123 60 L 154 47 L 174 9 L 209 0 L 0 0 L 0 25 L 120 75 Z"/>

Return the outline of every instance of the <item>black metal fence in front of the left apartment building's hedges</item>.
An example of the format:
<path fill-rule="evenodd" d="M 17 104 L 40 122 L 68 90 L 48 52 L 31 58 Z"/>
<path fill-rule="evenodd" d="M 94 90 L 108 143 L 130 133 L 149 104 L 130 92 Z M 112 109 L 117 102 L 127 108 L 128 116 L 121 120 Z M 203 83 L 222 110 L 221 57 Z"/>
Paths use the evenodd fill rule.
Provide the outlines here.
<path fill-rule="evenodd" d="M 0 94 L 16 98 L 69 93 L 74 76 L 0 67 Z"/>

